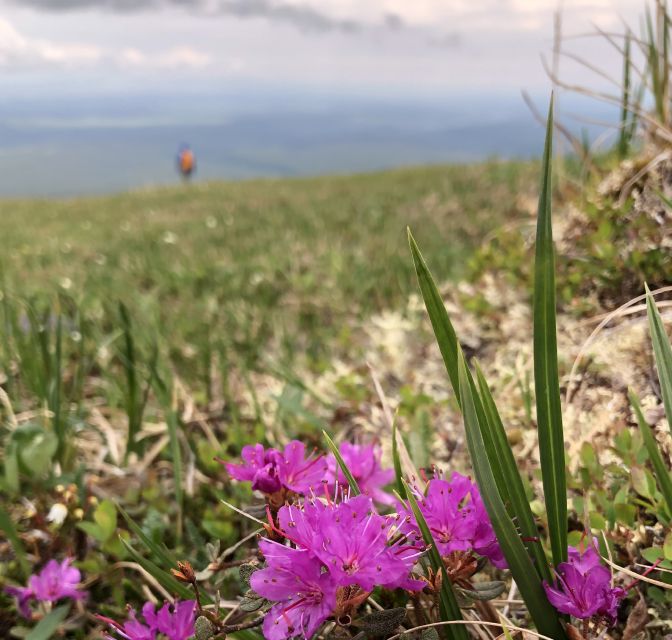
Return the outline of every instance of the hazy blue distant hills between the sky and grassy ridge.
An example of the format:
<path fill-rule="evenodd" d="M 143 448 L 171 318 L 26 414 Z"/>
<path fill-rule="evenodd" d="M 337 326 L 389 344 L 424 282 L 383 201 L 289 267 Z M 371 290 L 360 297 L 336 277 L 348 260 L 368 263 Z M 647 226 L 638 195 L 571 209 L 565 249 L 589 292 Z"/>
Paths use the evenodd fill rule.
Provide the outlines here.
<path fill-rule="evenodd" d="M 538 100 L 545 110 L 545 99 Z M 563 96 L 561 109 L 615 122 Z M 603 128 L 565 119 L 595 139 Z M 107 193 L 178 180 L 180 143 L 196 179 L 353 173 L 538 155 L 541 127 L 519 95 L 336 96 L 248 90 L 0 102 L 0 196 Z"/>

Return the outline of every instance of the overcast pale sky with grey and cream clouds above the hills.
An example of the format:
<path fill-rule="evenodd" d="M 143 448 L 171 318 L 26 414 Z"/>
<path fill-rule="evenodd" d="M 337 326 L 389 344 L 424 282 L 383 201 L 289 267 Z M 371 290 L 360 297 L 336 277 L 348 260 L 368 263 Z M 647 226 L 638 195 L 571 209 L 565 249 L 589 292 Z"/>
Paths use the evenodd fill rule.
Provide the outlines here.
<path fill-rule="evenodd" d="M 0 89 L 545 91 L 556 0 L 0 0 Z M 564 31 L 636 24 L 641 0 L 565 0 Z M 591 39 L 572 49 L 620 73 Z M 572 80 L 585 73 L 570 61 Z"/>

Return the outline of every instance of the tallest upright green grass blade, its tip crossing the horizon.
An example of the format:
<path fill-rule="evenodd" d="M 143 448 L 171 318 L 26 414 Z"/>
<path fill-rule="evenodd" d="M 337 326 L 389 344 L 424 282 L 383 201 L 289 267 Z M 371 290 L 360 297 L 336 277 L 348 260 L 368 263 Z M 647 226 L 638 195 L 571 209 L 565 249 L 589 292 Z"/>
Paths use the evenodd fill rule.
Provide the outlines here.
<path fill-rule="evenodd" d="M 548 111 L 534 261 L 534 383 L 539 458 L 553 562 L 567 560 L 567 478 L 555 325 L 555 256 L 551 227 L 553 100 Z"/>

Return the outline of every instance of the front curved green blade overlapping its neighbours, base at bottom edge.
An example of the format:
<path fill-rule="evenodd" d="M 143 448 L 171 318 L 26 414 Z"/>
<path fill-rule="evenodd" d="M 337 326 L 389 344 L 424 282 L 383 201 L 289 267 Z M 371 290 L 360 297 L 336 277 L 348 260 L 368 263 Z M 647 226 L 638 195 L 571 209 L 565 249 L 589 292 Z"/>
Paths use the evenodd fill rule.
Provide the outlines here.
<path fill-rule="evenodd" d="M 458 366 L 467 445 L 476 482 L 495 535 L 537 630 L 556 640 L 563 639 L 565 632 L 560 624 L 559 614 L 546 598 L 542 582 L 499 494 L 490 462 L 485 454 L 483 426 L 476 414 L 474 396 L 471 385 L 468 384 L 468 369 L 461 352 Z"/>

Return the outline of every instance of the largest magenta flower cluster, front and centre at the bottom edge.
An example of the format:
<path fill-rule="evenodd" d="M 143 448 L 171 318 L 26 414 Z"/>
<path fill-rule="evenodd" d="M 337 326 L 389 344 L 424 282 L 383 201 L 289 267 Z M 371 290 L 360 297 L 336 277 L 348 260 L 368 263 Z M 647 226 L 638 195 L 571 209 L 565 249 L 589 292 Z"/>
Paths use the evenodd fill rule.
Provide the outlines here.
<path fill-rule="evenodd" d="M 424 586 L 411 577 L 421 552 L 396 536 L 394 518 L 379 515 L 369 496 L 286 505 L 278 523 L 293 546 L 262 540 L 266 567 L 250 579 L 254 591 L 275 602 L 264 618 L 267 640 L 310 638 L 334 613 L 341 587 L 369 592 Z"/>

